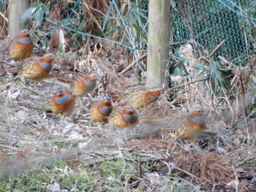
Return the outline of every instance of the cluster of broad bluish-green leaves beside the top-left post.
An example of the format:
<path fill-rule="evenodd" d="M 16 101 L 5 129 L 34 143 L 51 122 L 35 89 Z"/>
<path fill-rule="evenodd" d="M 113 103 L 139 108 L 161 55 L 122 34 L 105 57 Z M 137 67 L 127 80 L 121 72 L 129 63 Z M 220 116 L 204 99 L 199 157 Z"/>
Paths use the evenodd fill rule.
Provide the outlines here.
<path fill-rule="evenodd" d="M 34 18 L 34 20 L 37 23 L 37 26 L 42 25 L 42 20 L 44 17 L 47 17 L 49 15 L 50 10 L 50 4 L 42 4 L 34 2 L 31 4 L 29 9 L 26 10 L 26 12 L 23 13 L 21 16 L 21 22 L 26 23 L 29 18 Z"/>

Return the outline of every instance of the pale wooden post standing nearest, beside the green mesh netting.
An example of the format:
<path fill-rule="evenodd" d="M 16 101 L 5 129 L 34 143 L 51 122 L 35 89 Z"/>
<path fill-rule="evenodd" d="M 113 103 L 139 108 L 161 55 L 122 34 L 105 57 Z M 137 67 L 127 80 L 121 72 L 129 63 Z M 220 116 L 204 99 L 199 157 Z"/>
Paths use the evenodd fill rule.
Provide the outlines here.
<path fill-rule="evenodd" d="M 149 0 L 147 85 L 167 82 L 165 70 L 170 51 L 170 0 Z M 167 83 L 165 83 L 166 87 Z"/>

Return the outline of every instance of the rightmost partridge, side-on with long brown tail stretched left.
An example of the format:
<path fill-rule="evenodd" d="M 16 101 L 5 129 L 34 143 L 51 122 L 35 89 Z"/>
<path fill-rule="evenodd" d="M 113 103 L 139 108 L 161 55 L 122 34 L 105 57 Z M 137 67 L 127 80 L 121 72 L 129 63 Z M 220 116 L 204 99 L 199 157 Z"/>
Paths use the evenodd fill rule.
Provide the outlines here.
<path fill-rule="evenodd" d="M 170 115 L 165 118 L 144 116 L 142 124 L 155 126 L 164 131 L 167 136 L 187 139 L 195 144 L 197 137 L 206 129 L 205 112 L 201 107 L 195 107 L 189 115 Z"/>

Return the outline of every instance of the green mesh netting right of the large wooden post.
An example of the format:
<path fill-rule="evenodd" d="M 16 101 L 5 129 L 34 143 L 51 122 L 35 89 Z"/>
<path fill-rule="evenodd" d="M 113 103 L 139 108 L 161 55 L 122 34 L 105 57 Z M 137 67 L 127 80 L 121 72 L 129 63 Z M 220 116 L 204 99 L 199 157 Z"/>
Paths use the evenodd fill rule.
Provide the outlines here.
<path fill-rule="evenodd" d="M 225 43 L 214 53 L 228 60 L 246 60 L 247 53 L 255 50 L 250 38 L 252 27 L 246 22 L 238 7 L 255 18 L 256 1 L 218 1 L 218 0 L 181 0 L 172 1 L 170 10 L 170 26 L 173 42 L 183 42 L 194 37 L 195 41 L 211 53 L 222 40 Z M 236 7 L 235 4 L 238 6 Z M 239 14 L 241 13 L 241 15 Z M 255 20 L 253 20 L 255 22 Z M 173 53 L 181 45 L 173 46 Z"/>

